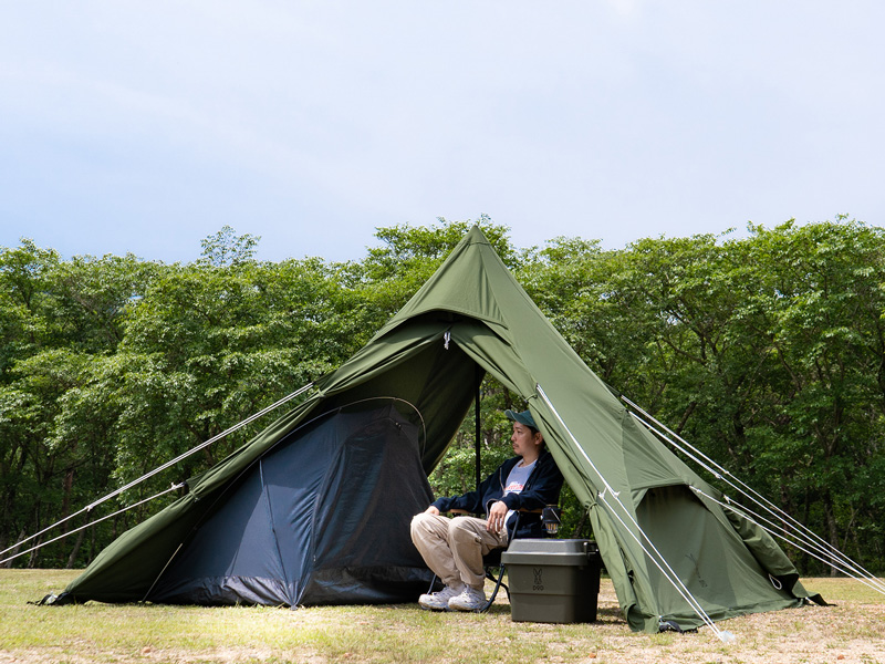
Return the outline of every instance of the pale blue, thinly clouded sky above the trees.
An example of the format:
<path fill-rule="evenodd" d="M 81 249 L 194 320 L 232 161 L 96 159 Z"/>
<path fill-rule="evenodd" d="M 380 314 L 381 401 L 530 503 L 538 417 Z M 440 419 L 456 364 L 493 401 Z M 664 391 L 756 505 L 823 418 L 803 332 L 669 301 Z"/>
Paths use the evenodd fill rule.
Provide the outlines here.
<path fill-rule="evenodd" d="M 0 2 L 0 246 L 361 259 L 885 214 L 885 3 Z"/>

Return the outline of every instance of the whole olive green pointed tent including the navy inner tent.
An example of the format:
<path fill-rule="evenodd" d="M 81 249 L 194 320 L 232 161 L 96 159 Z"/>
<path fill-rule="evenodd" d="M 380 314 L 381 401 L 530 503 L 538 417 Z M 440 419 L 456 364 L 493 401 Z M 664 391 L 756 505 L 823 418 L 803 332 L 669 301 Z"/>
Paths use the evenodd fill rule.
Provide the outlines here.
<path fill-rule="evenodd" d="M 637 424 L 476 227 L 304 403 L 189 480 L 184 497 L 121 536 L 63 596 L 290 605 L 417 599 L 427 577 L 408 541 L 409 513 L 429 499 L 426 474 L 485 373 L 528 403 L 589 510 L 633 630 L 656 632 L 666 621 L 690 629 L 804 602 L 796 570 L 768 533 L 726 511 L 721 494 Z M 382 471 L 396 459 L 402 467 Z M 362 512 L 350 516 L 357 504 Z M 375 554 L 382 540 L 392 550 Z M 299 560 L 290 564 L 292 551 Z"/>

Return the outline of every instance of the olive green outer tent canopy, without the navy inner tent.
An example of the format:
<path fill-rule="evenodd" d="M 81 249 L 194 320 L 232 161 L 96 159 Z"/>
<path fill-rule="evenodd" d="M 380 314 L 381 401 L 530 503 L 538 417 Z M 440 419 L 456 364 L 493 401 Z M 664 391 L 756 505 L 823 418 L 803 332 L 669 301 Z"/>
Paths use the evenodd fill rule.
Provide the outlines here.
<path fill-rule="evenodd" d="M 754 525 L 726 513 L 716 502 L 721 495 L 637 425 L 544 318 L 478 227 L 369 343 L 317 383 L 310 398 L 189 480 L 186 496 L 118 538 L 67 593 L 76 600 L 162 600 L 150 593 L 170 585 L 167 568 L 181 569 L 179 548 L 200 546 L 206 536 L 195 533 L 211 531 L 206 523 L 221 518 L 218 510 L 230 501 L 225 497 L 233 495 L 231 487 L 247 485 L 242 478 L 256 476 L 256 468 L 272 471 L 278 463 L 273 450 L 292 438 L 304 455 L 329 456 L 324 446 L 332 444 L 310 438 L 304 423 L 351 404 L 381 397 L 408 404 L 397 417 L 420 432 L 423 440 L 412 448 L 426 476 L 442 458 L 485 373 L 531 409 L 565 480 L 590 512 L 632 629 L 656 632 L 662 620 L 683 629 L 702 624 L 686 594 L 712 620 L 796 606 L 808 596 L 777 543 Z M 363 454 L 382 454 L 383 447 Z M 392 463 L 391 454 L 384 454 L 385 464 Z M 424 487 L 426 477 L 408 483 Z M 412 491 L 418 502 L 423 490 Z M 311 515 L 313 509 L 304 507 Z M 389 532 L 402 529 L 402 546 L 409 548 L 407 520 L 378 510 L 366 517 L 385 520 Z M 196 553 L 188 556 L 196 560 Z M 403 552 L 396 557 L 408 558 Z M 201 572 L 191 566 L 190 573 Z M 299 588 L 310 584 L 305 580 Z M 294 587 L 291 593 L 285 603 L 311 603 Z M 374 599 L 384 601 L 379 594 Z M 348 591 L 345 583 L 322 599 L 353 601 L 373 599 Z"/>

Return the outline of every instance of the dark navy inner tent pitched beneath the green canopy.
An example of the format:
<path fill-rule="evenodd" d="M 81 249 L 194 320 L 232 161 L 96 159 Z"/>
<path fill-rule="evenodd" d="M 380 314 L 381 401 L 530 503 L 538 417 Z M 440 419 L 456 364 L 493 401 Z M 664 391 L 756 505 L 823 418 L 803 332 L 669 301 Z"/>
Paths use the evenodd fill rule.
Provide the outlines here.
<path fill-rule="evenodd" d="M 290 606 L 414 599 L 430 577 L 408 523 L 433 494 L 419 426 L 394 404 L 339 408 L 282 438 L 218 496 L 145 599 Z"/>

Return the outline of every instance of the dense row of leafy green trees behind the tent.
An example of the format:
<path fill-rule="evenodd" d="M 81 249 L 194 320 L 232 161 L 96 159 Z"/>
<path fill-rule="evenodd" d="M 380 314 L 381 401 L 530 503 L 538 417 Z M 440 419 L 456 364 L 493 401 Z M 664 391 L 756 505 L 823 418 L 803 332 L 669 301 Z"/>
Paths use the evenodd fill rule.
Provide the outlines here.
<path fill-rule="evenodd" d="M 477 222 L 607 384 L 868 569 L 885 569 L 883 229 L 791 220 L 741 238 L 606 250 L 581 238 L 517 248 L 507 227 Z M 177 494 L 140 500 L 269 422 L 84 506 L 333 371 L 471 224 L 381 228 L 378 246 L 346 262 L 259 261 L 260 239 L 229 227 L 187 263 L 63 259 L 28 239 L 0 248 L 0 550 L 75 515 L 0 559 L 72 532 L 7 566 L 86 564 Z M 521 407 L 514 400 L 482 385 L 486 470 L 510 454 L 502 409 Z M 468 417 L 430 478 L 437 494 L 472 485 L 472 430 Z M 568 491 L 564 502 L 566 526 L 581 531 Z M 803 573 L 830 571 L 787 549 Z"/>

